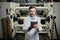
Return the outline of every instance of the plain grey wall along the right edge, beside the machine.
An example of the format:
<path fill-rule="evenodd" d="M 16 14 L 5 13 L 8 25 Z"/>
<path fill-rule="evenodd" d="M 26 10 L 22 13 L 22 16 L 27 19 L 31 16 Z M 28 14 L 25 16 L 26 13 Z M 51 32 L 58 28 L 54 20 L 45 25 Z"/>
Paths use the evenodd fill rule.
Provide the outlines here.
<path fill-rule="evenodd" d="M 58 35 L 59 35 L 59 38 L 60 38 L 60 2 L 55 2 L 54 3 L 54 13 L 53 15 L 56 16 L 56 26 L 57 26 L 57 31 L 58 31 Z"/>

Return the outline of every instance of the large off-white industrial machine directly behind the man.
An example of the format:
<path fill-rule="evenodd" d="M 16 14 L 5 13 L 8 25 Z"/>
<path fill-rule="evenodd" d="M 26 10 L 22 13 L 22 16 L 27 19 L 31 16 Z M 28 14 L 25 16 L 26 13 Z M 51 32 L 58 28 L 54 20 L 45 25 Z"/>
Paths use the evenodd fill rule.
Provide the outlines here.
<path fill-rule="evenodd" d="M 36 3 L 37 4 L 37 3 Z M 26 5 L 28 5 L 26 3 Z M 35 5 L 35 3 L 33 3 Z M 50 29 L 51 29 L 51 18 L 50 16 L 53 13 L 53 3 L 44 3 L 44 6 L 36 6 L 37 9 L 37 16 L 41 18 L 41 24 L 43 31 L 39 33 L 48 33 L 49 38 L 51 38 Z M 14 8 L 14 14 L 16 16 L 16 13 L 18 12 L 20 14 L 20 17 L 17 17 L 17 21 L 15 21 L 16 24 L 16 33 L 24 33 L 22 31 L 23 26 L 23 20 L 24 18 L 29 15 L 28 14 L 28 8 L 29 6 L 21 6 L 21 7 L 15 7 Z M 48 17 L 49 16 L 49 17 Z M 48 18 L 48 19 L 47 19 Z"/>

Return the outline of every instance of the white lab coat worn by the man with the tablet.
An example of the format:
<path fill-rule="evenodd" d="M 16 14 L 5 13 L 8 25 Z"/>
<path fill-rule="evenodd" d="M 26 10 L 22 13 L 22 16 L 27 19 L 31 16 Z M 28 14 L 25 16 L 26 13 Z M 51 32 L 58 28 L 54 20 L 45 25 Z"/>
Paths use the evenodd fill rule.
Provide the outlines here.
<path fill-rule="evenodd" d="M 31 21 L 33 22 L 37 21 L 39 25 L 39 31 L 42 30 L 39 17 L 37 17 L 36 15 L 34 17 L 27 16 L 24 19 L 24 24 L 23 24 L 23 31 L 25 32 L 25 40 L 39 40 L 39 34 L 36 29 L 32 28 L 30 31 L 27 31 L 28 28 L 30 27 Z"/>

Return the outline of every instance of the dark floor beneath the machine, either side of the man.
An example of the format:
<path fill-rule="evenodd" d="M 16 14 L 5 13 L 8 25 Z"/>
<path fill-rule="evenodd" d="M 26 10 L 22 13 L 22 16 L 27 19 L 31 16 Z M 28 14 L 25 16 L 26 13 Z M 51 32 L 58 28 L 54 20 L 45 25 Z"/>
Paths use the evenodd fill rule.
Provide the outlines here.
<path fill-rule="evenodd" d="M 10 39 L 10 40 L 24 40 L 25 34 L 22 34 L 22 33 L 17 33 L 14 37 L 14 39 Z M 47 34 L 39 34 L 39 38 L 40 40 L 50 40 L 47 36 Z M 0 40 L 3 40 L 3 39 L 0 39 Z M 57 39 L 53 39 L 53 40 L 57 40 Z"/>

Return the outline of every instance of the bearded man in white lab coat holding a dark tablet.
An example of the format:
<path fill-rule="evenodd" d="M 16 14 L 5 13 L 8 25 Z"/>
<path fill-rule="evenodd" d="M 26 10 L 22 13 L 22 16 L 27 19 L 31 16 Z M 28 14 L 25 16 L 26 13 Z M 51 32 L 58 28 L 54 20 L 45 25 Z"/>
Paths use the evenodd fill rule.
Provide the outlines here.
<path fill-rule="evenodd" d="M 33 28 L 28 31 L 31 22 L 38 22 L 33 25 Z M 39 40 L 39 32 L 42 31 L 40 18 L 36 16 L 36 7 L 29 7 L 29 15 L 24 19 L 23 31 L 25 32 L 25 40 Z M 37 31 L 37 29 L 39 31 Z"/>

